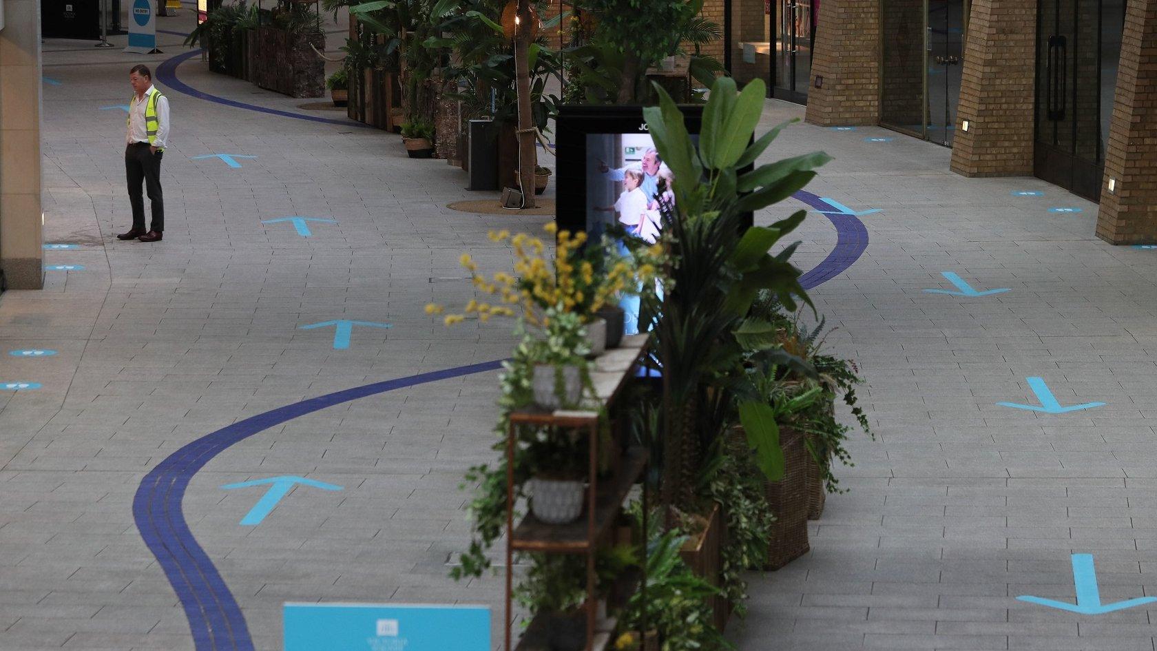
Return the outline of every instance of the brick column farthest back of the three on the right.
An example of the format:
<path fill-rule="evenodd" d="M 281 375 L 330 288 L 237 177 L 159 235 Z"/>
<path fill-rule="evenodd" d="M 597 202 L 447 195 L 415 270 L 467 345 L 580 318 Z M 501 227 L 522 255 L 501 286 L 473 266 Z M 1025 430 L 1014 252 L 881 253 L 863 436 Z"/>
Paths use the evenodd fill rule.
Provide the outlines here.
<path fill-rule="evenodd" d="M 878 123 L 879 0 L 823 0 L 818 17 L 806 120 Z"/>

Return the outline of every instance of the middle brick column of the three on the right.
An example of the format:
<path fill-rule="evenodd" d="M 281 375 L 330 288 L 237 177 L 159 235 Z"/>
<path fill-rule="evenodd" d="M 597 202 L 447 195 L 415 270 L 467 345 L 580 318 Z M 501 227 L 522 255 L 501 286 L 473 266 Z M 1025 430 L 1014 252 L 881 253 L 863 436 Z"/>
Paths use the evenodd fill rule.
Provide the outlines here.
<path fill-rule="evenodd" d="M 1032 174 L 1036 45 L 1036 0 L 972 0 L 952 171 Z"/>

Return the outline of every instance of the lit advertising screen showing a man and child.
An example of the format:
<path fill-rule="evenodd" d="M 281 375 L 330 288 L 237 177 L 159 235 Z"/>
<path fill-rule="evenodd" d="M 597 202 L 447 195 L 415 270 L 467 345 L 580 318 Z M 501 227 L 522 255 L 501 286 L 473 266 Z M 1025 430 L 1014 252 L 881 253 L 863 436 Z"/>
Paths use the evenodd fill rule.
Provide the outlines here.
<path fill-rule="evenodd" d="M 675 209 L 675 177 L 647 133 L 587 134 L 587 234 L 598 241 L 618 222 L 627 237 L 654 243 L 663 231 L 663 212 Z M 618 240 L 621 254 L 626 244 Z M 656 287 L 662 292 L 662 288 Z M 625 334 L 639 334 L 639 297 L 628 294 Z M 646 330 L 646 328 L 644 328 Z"/>

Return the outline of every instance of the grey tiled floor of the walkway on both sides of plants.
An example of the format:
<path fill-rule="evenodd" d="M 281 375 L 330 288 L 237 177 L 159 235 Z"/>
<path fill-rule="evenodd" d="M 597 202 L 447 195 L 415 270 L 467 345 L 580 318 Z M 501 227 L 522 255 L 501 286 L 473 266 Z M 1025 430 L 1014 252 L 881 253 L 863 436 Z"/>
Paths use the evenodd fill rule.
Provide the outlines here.
<path fill-rule="evenodd" d="M 191 19 L 162 21 L 180 31 Z M 153 63 L 178 41 L 162 36 L 167 53 Z M 503 357 L 503 326 L 448 330 L 421 307 L 470 295 L 460 280 L 430 281 L 459 277 L 462 251 L 506 264 L 488 228 L 543 219 L 447 210 L 474 198 L 463 173 L 410 161 L 395 136 L 170 90 L 165 240 L 119 242 L 124 117 L 100 107 L 125 101 L 135 59 L 88 43 L 45 50 L 45 74 L 61 81 L 44 87 L 45 239 L 82 244 L 46 262 L 87 269 L 0 298 L 0 381 L 44 385 L 0 393 L 0 649 L 193 649 L 133 525 L 141 477 L 255 414 Z M 282 110 L 312 102 L 258 93 L 197 59 L 179 74 Z M 765 123 L 801 112 L 768 102 Z M 751 614 L 732 637 L 742 649 L 810 651 L 1152 650 L 1145 608 L 1075 615 L 1015 597 L 1071 601 L 1071 553 L 1096 556 L 1105 602 L 1157 593 L 1157 250 L 1093 239 L 1096 206 L 1044 182 L 965 180 L 946 173 L 948 149 L 863 140 L 884 133 L 797 125 L 769 153 L 826 149 L 835 160 L 809 190 L 882 209 L 863 218 L 863 258 L 812 292 L 835 327 L 827 346 L 868 378 L 877 438 L 853 441 L 857 463 L 841 473 L 850 492 L 812 524 L 812 553 L 752 576 Z M 191 160 L 207 153 L 258 158 L 241 169 Z M 337 224 L 309 239 L 260 224 L 294 214 Z M 835 240 L 819 215 L 801 237 L 804 269 Z M 942 271 L 1011 291 L 923 292 L 950 288 Z M 358 329 L 348 351 L 332 349 L 332 331 L 297 329 L 332 319 L 393 327 Z M 7 354 L 23 348 L 59 354 Z M 1066 415 L 996 405 L 1033 402 L 1027 376 L 1062 404 L 1107 404 Z M 280 649 L 286 600 L 499 607 L 499 580 L 457 585 L 444 564 L 469 531 L 462 471 L 491 456 L 494 395 L 487 373 L 345 403 L 234 445 L 192 480 L 186 518 L 257 649 Z M 260 526 L 238 526 L 256 495 L 219 487 L 280 474 L 345 490 L 295 491 Z"/>

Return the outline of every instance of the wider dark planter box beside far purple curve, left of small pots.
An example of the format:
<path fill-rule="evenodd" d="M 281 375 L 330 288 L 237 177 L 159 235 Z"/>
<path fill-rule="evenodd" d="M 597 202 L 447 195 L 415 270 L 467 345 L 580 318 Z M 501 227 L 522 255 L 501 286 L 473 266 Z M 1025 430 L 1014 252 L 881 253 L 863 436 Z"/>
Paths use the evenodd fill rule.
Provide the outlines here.
<path fill-rule="evenodd" d="M 294 36 L 263 27 L 257 29 L 253 45 L 253 83 L 290 97 L 325 95 L 325 64 L 314 52 L 314 47 L 325 50 L 324 34 Z"/>

